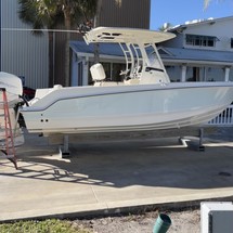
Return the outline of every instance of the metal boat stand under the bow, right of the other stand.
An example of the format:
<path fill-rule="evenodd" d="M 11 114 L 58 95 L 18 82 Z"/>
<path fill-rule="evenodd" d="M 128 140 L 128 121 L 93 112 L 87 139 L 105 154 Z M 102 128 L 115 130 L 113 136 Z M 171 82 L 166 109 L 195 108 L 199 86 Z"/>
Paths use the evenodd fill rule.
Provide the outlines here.
<path fill-rule="evenodd" d="M 181 137 L 179 141 L 181 142 L 182 145 L 185 147 L 189 147 L 191 150 L 195 150 L 198 152 L 204 152 L 205 151 L 205 145 L 203 145 L 203 137 L 204 137 L 204 128 L 199 128 L 199 134 L 198 134 L 198 140 L 192 140 L 185 137 Z"/>

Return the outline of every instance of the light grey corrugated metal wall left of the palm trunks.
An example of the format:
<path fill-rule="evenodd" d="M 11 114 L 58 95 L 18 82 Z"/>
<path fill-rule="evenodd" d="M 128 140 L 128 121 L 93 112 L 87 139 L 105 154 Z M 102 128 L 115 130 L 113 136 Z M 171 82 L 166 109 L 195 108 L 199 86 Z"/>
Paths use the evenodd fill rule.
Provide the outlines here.
<path fill-rule="evenodd" d="M 25 86 L 46 88 L 49 80 L 48 35 L 34 36 L 18 18 L 17 0 L 1 0 L 1 67 L 2 72 L 25 77 Z"/>

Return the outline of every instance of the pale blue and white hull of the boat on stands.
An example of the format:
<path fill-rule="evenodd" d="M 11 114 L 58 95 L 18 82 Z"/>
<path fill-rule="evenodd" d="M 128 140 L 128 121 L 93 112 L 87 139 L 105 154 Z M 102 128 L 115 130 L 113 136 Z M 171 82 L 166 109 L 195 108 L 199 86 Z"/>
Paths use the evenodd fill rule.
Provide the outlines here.
<path fill-rule="evenodd" d="M 29 132 L 140 131 L 196 126 L 233 100 L 229 82 L 180 82 L 52 90 L 21 112 Z"/>

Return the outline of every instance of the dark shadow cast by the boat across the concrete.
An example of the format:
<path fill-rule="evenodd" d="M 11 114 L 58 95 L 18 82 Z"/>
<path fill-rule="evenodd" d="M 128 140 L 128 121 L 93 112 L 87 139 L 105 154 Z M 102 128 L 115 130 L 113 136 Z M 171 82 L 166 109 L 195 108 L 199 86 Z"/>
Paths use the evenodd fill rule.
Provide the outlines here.
<path fill-rule="evenodd" d="M 12 165 L 4 161 L 2 176 L 115 187 L 233 186 L 231 142 L 208 143 L 205 152 L 197 152 L 177 138 L 92 141 L 72 144 L 72 156 L 62 158 L 56 146 L 34 137 L 18 150 L 18 170 L 7 169 Z"/>

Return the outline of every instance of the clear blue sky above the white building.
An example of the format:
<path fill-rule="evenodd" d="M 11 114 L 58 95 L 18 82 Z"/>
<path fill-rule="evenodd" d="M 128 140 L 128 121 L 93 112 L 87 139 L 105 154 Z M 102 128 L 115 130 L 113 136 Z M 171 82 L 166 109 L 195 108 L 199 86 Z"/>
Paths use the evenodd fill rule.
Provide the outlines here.
<path fill-rule="evenodd" d="M 173 26 L 186 21 L 233 16 L 233 0 L 211 0 L 204 10 L 204 0 L 151 0 L 151 29 L 164 23 Z M 233 28 L 232 28 L 233 29 Z"/>

